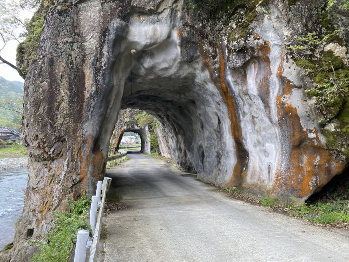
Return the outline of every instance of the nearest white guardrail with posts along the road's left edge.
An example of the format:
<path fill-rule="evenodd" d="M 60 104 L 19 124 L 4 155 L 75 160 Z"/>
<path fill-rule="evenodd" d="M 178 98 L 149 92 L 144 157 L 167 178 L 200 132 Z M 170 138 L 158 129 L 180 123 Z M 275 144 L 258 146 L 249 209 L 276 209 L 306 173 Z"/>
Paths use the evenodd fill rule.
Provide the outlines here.
<path fill-rule="evenodd" d="M 74 262 L 86 262 L 87 249 L 90 249 L 88 262 L 96 262 L 98 256 L 99 239 L 102 229 L 102 216 L 107 192 L 112 179 L 104 177 L 103 182 L 98 181 L 96 196 L 92 197 L 90 209 L 90 225 L 93 237 L 89 238 L 89 231 L 79 230 L 75 246 Z M 102 198 L 102 199 L 101 199 Z M 98 210 L 99 207 L 99 210 Z M 98 210 L 98 216 L 97 216 Z"/>

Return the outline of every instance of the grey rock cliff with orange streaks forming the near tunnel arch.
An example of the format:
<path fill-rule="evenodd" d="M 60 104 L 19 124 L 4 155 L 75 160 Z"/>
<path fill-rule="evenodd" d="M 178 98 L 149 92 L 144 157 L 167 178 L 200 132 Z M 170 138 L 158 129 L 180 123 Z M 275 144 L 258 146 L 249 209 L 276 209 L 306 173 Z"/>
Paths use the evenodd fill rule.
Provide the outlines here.
<path fill-rule="evenodd" d="M 291 23 L 287 2 L 253 9 L 243 42 L 182 0 L 51 10 L 24 86 L 29 180 L 11 261 L 28 260 L 27 240 L 51 228 L 67 198 L 94 191 L 121 109 L 154 114 L 178 165 L 217 186 L 302 201 L 341 173 L 348 159 L 327 149 L 308 84 L 283 50 L 302 23 Z"/>

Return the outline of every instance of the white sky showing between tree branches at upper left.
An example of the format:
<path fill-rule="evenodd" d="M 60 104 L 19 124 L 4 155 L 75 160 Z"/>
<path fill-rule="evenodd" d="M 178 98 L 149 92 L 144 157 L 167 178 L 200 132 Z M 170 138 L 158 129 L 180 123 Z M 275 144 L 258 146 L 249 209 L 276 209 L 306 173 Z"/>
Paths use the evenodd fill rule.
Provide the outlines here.
<path fill-rule="evenodd" d="M 21 18 L 31 18 L 33 15 L 30 11 L 23 11 L 21 13 Z M 16 48 L 17 48 L 18 42 L 15 40 L 11 40 L 7 42 L 5 48 L 1 51 L 1 56 L 11 62 L 12 64 L 16 64 Z M 6 64 L 0 64 L 0 76 L 3 78 L 10 80 L 10 81 L 20 81 L 24 82 L 23 78 L 19 76 L 16 70 L 12 69 L 12 67 L 6 65 Z"/>

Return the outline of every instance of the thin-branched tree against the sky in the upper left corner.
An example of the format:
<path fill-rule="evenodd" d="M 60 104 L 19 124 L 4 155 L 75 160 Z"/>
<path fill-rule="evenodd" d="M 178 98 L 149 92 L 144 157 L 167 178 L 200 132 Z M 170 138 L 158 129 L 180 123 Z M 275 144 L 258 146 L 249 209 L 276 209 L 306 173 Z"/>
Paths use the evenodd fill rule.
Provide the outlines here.
<path fill-rule="evenodd" d="M 28 28 L 28 19 L 21 18 L 21 12 L 33 10 L 40 4 L 40 0 L 0 0 L 0 63 L 15 69 L 25 79 L 25 74 L 19 67 L 1 56 L 1 51 L 10 40 L 18 44 L 24 39 Z"/>

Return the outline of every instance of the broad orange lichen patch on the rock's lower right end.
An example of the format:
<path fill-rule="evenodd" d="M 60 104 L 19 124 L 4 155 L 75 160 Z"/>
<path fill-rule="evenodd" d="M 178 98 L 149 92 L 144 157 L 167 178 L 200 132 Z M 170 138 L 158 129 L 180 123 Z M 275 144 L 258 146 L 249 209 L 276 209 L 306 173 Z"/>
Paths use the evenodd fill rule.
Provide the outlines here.
<path fill-rule="evenodd" d="M 321 146 L 316 129 L 303 129 L 297 108 L 288 99 L 296 87 L 288 80 L 280 79 L 280 83 L 284 88 L 276 104 L 280 129 L 288 143 L 283 144 L 284 163 L 276 172 L 273 192 L 306 199 L 338 174 L 344 163 Z M 310 132 L 315 138 L 309 138 Z"/>

